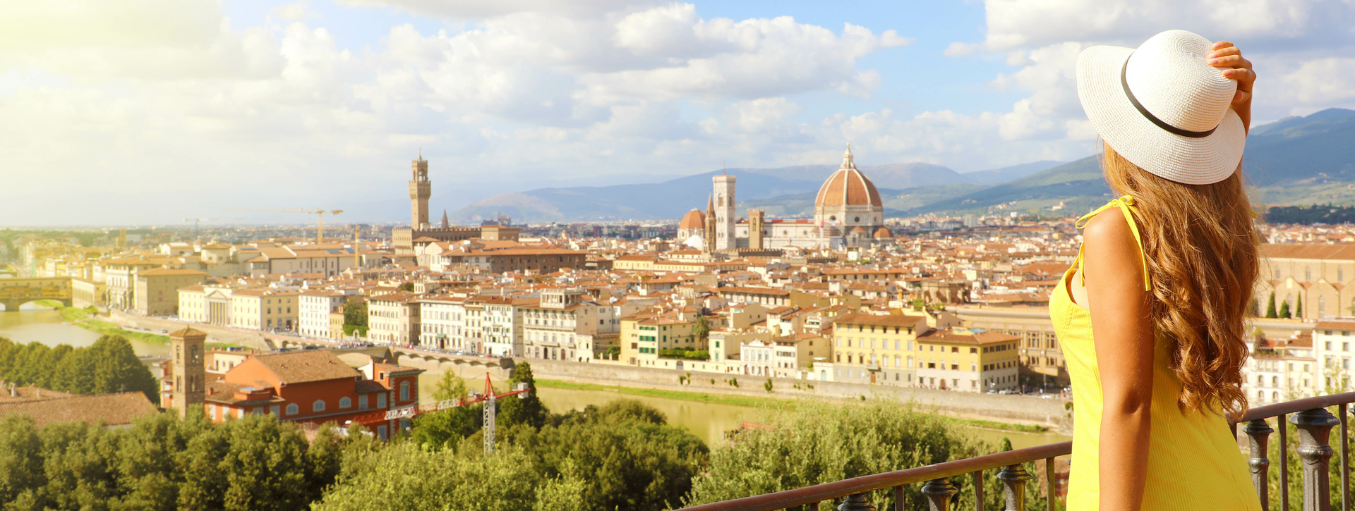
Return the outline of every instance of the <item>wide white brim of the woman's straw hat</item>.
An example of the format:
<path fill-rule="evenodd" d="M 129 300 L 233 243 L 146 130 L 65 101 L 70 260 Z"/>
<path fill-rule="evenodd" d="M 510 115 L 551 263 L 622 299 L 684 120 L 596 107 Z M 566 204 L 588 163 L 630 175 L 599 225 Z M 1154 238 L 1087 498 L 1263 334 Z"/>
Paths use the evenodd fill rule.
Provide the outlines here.
<path fill-rule="evenodd" d="M 1129 101 L 1121 70 L 1133 49 L 1092 46 L 1077 57 L 1077 99 L 1092 127 L 1115 153 L 1141 169 L 1184 184 L 1218 182 L 1237 170 L 1247 146 L 1243 119 L 1232 108 L 1209 137 L 1163 130 Z"/>

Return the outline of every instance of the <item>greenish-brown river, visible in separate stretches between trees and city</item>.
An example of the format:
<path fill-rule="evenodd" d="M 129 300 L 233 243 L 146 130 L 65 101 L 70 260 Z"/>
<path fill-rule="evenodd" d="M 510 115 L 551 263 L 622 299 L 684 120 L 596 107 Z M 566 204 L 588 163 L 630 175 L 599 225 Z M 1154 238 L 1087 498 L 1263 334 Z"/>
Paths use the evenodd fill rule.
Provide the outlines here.
<path fill-rule="evenodd" d="M 89 346 L 99 334 L 84 330 L 61 320 L 61 315 L 53 310 L 23 310 L 19 312 L 0 312 L 0 337 L 15 342 L 42 342 L 49 346 L 68 343 L 72 346 Z M 130 339 L 138 356 L 167 356 L 169 346 L 153 342 Z M 420 392 L 432 395 L 436 376 L 425 374 L 420 379 Z M 473 385 L 474 387 L 474 385 Z M 607 404 L 618 399 L 634 399 L 657 408 L 668 416 L 668 422 L 683 426 L 699 437 L 707 445 L 718 445 L 725 431 L 737 429 L 743 422 L 756 422 L 762 410 L 720 403 L 699 403 L 683 399 L 623 395 L 617 391 L 577 391 L 541 388 L 538 389 L 542 403 L 554 412 L 568 410 L 583 410 L 589 404 Z M 978 427 L 967 427 L 978 438 L 997 445 L 1003 437 L 1012 441 L 1016 449 L 1030 447 L 1042 443 L 1062 442 L 1070 437 L 1058 433 L 1020 433 L 999 431 Z"/>

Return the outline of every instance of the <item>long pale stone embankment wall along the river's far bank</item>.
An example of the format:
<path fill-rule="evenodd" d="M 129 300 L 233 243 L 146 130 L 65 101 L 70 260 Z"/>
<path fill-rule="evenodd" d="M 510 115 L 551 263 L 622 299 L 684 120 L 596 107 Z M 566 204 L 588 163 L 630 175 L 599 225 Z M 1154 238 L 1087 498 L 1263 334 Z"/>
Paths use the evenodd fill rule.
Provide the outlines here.
<path fill-rule="evenodd" d="M 768 393 L 764 387 L 767 377 L 762 376 L 717 374 L 535 358 L 518 358 L 518 361 L 530 362 L 533 374 L 546 380 L 688 392 L 718 392 L 752 397 L 817 396 L 827 399 L 862 399 L 864 396 L 870 399 L 883 396 L 912 400 L 924 408 L 935 408 L 935 411 L 942 414 L 969 419 L 1031 423 L 1064 433 L 1072 431 L 1072 412 L 1064 408 L 1064 403 L 1068 402 L 1065 399 L 791 379 L 771 379 L 772 391 Z M 686 384 L 679 383 L 679 376 L 690 376 L 691 381 Z M 714 380 L 714 384 L 711 380 Z M 732 385 L 729 380 L 737 380 L 738 387 Z"/>

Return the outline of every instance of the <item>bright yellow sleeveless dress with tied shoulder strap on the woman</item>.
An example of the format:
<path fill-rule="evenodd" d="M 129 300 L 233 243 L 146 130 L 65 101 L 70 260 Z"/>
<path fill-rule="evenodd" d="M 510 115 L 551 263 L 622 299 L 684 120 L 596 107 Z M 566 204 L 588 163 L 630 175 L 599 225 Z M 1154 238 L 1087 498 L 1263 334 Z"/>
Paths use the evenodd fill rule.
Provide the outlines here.
<path fill-rule="evenodd" d="M 1131 211 L 1134 199 L 1123 196 L 1077 220 L 1087 220 L 1107 208 L 1118 207 L 1129 222 L 1144 257 L 1144 242 Z M 1100 504 L 1100 420 L 1102 387 L 1092 342 L 1092 319 L 1085 308 L 1069 296 L 1069 278 L 1083 265 L 1083 251 L 1049 299 L 1049 315 L 1064 349 L 1073 388 L 1073 456 L 1068 483 L 1069 511 L 1096 511 Z M 1146 265 L 1145 289 L 1152 289 Z M 1144 487 L 1145 511 L 1260 511 L 1260 499 L 1252 487 L 1247 460 L 1230 437 L 1228 420 L 1217 412 L 1183 414 L 1176 407 L 1182 384 L 1168 366 L 1171 354 L 1157 342 L 1153 354 L 1152 431 Z"/>

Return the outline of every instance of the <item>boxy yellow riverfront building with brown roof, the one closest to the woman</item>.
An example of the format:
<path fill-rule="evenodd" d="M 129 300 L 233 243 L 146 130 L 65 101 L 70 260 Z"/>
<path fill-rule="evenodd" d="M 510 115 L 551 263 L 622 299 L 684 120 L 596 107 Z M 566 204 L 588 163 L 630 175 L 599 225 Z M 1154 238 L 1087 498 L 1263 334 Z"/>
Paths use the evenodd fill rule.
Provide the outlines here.
<path fill-rule="evenodd" d="M 932 330 L 917 337 L 917 387 L 986 392 L 1019 389 L 1016 335 Z"/>

